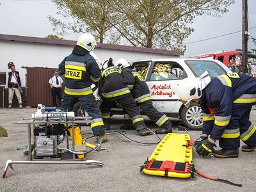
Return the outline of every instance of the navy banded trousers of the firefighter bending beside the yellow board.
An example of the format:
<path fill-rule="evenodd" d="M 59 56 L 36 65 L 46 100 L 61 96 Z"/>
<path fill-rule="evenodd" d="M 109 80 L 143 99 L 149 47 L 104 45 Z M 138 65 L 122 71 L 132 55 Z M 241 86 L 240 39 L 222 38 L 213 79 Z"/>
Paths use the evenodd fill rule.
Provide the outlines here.
<path fill-rule="evenodd" d="M 256 126 L 249 120 L 252 105 L 233 104 L 230 122 L 220 139 L 221 148 L 239 148 L 239 139 L 246 145 L 256 146 Z"/>

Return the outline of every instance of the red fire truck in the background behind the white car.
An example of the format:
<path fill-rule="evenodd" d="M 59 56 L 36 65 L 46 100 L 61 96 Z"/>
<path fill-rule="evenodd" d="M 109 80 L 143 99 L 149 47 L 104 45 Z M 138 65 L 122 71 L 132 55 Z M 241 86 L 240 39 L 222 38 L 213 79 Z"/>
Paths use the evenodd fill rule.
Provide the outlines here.
<path fill-rule="evenodd" d="M 241 63 L 243 62 L 242 58 L 242 50 L 236 49 L 235 51 L 219 51 L 219 52 L 211 52 L 207 54 L 200 54 L 197 56 L 191 56 L 190 58 L 197 59 L 212 59 L 219 60 L 224 63 L 227 67 L 232 67 L 234 65 L 234 61 L 236 59 L 236 55 L 239 56 Z M 248 63 L 256 64 L 256 54 L 248 51 Z"/>

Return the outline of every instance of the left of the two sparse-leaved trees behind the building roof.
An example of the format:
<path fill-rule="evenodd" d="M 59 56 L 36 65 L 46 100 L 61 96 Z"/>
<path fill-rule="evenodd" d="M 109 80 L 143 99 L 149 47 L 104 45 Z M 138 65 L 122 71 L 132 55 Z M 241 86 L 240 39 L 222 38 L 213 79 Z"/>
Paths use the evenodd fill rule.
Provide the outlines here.
<path fill-rule="evenodd" d="M 93 33 L 99 41 L 104 41 L 106 32 L 112 28 L 119 19 L 113 14 L 114 1 L 109 0 L 54 0 L 58 7 L 58 14 L 66 19 L 71 18 L 67 23 L 61 22 L 49 16 L 49 20 L 55 30 L 60 30 L 63 34 L 70 29 L 76 33 L 90 32 Z M 109 22 L 111 20 L 111 22 Z"/>

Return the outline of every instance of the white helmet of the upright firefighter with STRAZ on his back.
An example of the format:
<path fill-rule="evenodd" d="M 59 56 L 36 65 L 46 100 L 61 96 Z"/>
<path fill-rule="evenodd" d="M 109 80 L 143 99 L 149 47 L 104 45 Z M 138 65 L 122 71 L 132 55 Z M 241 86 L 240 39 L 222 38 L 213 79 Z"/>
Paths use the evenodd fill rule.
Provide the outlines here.
<path fill-rule="evenodd" d="M 83 33 L 77 40 L 77 45 L 83 47 L 87 51 L 92 51 L 96 47 L 97 43 L 95 37 L 90 33 Z"/>

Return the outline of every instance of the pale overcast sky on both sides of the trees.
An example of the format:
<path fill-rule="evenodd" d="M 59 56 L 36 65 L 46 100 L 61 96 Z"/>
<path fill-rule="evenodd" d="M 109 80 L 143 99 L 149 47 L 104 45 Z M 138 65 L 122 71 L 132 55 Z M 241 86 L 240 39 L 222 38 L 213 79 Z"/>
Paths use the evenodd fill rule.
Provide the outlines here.
<path fill-rule="evenodd" d="M 47 17 L 59 17 L 56 6 L 49 0 L 0 0 L 0 33 L 8 35 L 24 35 L 45 37 L 56 34 Z M 248 27 L 250 34 L 256 38 L 256 0 L 248 0 Z M 195 31 L 184 41 L 184 56 L 195 56 L 207 52 L 233 51 L 242 47 L 242 33 L 212 38 L 242 30 L 242 0 L 236 0 L 228 8 L 229 12 L 221 17 L 196 17 L 191 26 Z M 63 36 L 68 40 L 77 40 L 77 34 Z M 198 40 L 205 40 L 196 42 Z M 196 43 L 191 43 L 196 42 Z M 250 40 L 248 51 L 256 45 Z"/>

